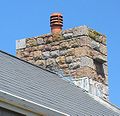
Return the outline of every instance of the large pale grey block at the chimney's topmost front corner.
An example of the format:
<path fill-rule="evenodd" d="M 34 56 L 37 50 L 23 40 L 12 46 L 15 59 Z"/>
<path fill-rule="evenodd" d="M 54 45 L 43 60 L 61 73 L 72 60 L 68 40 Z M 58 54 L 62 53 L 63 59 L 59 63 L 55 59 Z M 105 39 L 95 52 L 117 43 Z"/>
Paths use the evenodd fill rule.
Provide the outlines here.
<path fill-rule="evenodd" d="M 89 31 L 87 26 L 80 26 L 73 29 L 73 36 L 88 35 Z"/>

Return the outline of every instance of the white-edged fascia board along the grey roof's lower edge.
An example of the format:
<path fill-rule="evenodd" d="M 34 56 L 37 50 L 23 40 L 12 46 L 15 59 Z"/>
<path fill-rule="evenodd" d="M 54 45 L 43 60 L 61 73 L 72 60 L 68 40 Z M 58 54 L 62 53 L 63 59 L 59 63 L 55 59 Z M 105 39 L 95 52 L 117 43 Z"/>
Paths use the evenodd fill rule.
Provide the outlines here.
<path fill-rule="evenodd" d="M 0 100 L 4 101 L 6 103 L 9 103 L 11 105 L 14 105 L 16 107 L 20 107 L 26 110 L 29 110 L 34 113 L 43 114 L 43 115 L 49 115 L 49 116 L 70 116 L 66 113 L 63 113 L 61 111 L 46 107 L 42 104 L 38 104 L 36 102 L 24 99 L 22 97 L 13 95 L 11 93 L 5 92 L 3 90 L 0 90 Z"/>

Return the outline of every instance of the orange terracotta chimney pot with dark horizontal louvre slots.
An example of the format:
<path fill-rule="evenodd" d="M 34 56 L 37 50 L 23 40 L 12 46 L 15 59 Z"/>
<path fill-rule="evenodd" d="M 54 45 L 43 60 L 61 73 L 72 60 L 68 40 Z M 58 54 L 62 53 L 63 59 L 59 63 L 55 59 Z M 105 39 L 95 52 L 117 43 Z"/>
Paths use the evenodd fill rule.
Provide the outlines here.
<path fill-rule="evenodd" d="M 50 27 L 52 34 L 60 33 L 63 26 L 63 16 L 61 13 L 53 13 L 50 16 Z"/>

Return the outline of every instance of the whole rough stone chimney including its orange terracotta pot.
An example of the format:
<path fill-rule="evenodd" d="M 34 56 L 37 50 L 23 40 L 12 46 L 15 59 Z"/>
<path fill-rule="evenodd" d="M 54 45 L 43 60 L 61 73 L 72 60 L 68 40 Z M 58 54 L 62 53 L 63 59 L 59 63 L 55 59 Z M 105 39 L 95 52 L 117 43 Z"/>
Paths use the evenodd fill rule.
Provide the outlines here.
<path fill-rule="evenodd" d="M 108 100 L 106 37 L 87 26 L 62 31 L 62 21 L 60 13 L 53 13 L 51 34 L 17 40 L 17 57 Z"/>

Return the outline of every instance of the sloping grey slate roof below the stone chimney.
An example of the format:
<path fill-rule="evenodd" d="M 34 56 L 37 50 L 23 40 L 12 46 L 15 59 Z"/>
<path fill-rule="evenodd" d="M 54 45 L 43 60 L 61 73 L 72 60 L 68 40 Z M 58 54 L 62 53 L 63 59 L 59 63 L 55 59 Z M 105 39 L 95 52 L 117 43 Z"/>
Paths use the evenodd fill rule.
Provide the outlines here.
<path fill-rule="evenodd" d="M 70 116 L 120 115 L 120 109 L 115 106 L 109 103 L 111 108 L 105 106 L 56 74 L 2 51 L 0 51 L 0 90 Z"/>

